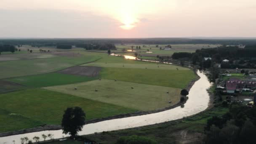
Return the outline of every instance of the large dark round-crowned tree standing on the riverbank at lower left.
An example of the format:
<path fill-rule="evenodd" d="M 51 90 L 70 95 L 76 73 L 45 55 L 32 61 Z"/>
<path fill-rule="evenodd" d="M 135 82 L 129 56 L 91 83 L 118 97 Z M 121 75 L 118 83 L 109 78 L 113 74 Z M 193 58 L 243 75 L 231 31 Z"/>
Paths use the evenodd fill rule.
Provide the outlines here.
<path fill-rule="evenodd" d="M 61 126 L 63 133 L 77 135 L 85 125 L 85 112 L 80 107 L 69 107 L 64 111 Z"/>

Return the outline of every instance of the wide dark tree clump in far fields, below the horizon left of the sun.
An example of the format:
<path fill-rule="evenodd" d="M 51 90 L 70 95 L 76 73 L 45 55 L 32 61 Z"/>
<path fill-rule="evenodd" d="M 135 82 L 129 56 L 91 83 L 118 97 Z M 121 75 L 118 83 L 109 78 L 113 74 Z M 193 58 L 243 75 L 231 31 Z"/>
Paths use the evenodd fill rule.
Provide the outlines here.
<path fill-rule="evenodd" d="M 86 50 L 114 50 L 116 49 L 115 44 L 77 44 L 77 48 L 85 48 Z"/>

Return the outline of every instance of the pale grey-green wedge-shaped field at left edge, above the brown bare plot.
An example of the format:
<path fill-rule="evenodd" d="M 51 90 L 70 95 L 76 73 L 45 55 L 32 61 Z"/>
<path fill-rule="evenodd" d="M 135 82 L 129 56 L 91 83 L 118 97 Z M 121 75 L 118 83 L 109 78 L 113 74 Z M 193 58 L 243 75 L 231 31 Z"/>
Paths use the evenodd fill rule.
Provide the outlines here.
<path fill-rule="evenodd" d="M 88 63 L 98 56 L 56 57 L 20 61 L 0 61 L 0 79 L 55 72 L 67 67 Z"/>

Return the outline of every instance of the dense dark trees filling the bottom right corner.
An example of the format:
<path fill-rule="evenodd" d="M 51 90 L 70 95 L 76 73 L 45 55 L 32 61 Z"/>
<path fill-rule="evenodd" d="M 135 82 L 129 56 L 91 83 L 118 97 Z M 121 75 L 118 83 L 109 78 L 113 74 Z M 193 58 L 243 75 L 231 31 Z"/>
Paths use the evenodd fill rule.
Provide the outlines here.
<path fill-rule="evenodd" d="M 205 126 L 206 144 L 255 144 L 256 107 L 232 104 L 222 117 L 212 117 Z"/>

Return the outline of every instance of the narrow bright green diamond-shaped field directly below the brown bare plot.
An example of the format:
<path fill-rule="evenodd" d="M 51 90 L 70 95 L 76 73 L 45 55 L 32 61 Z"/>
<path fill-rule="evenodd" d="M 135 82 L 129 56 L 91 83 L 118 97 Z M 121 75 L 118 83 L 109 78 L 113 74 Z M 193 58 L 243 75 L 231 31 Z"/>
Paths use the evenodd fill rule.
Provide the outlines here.
<path fill-rule="evenodd" d="M 96 80 L 96 77 L 86 77 L 78 75 L 67 75 L 61 73 L 47 73 L 41 75 L 31 75 L 24 77 L 14 77 L 6 79 L 11 82 L 20 83 L 29 87 L 40 88 L 52 85 L 65 85 L 71 83 L 79 83 L 90 80 Z"/>

